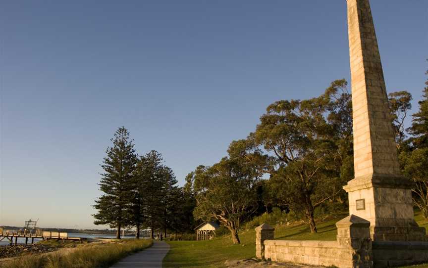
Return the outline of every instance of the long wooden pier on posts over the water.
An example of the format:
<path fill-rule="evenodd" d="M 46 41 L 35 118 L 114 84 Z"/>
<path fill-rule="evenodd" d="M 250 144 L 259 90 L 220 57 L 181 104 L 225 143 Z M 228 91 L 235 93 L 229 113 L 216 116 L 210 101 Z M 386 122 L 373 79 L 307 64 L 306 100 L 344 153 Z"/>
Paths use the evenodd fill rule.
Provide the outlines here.
<path fill-rule="evenodd" d="M 68 237 L 68 233 L 66 232 L 51 232 L 44 231 L 42 229 L 36 230 L 4 230 L 0 227 L 0 242 L 6 239 L 10 242 L 10 245 L 13 244 L 13 238 L 15 238 L 15 245 L 18 243 L 18 238 L 25 238 L 25 244 L 28 244 L 28 239 L 31 239 L 31 244 L 34 243 L 34 239 L 42 239 L 42 240 L 72 240 L 72 241 L 83 241 L 87 240 L 87 238 L 82 237 Z"/>

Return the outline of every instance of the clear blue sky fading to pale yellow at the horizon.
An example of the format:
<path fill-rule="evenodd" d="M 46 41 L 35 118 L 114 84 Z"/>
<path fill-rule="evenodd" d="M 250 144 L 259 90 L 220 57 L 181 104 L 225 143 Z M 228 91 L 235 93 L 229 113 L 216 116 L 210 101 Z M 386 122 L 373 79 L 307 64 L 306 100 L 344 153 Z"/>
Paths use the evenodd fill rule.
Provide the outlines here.
<path fill-rule="evenodd" d="M 350 80 L 345 0 L 0 6 L 0 225 L 97 227 L 99 165 L 120 126 L 182 184 L 253 131 L 268 104 Z M 416 103 L 428 2 L 372 0 L 372 11 L 387 90 Z"/>

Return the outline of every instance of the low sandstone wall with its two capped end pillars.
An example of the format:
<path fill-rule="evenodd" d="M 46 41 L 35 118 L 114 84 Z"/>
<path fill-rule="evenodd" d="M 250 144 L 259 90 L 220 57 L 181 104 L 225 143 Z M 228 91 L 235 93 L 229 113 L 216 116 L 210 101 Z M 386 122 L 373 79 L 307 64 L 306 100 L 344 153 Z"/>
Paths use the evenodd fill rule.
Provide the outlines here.
<path fill-rule="evenodd" d="M 291 262 L 315 266 L 336 266 L 339 268 L 373 268 L 372 240 L 370 222 L 350 215 L 336 223 L 336 241 L 288 241 L 262 240 L 256 235 L 258 258 L 275 262 Z M 262 224 L 256 228 L 256 234 L 265 232 L 273 237 L 273 228 Z"/>

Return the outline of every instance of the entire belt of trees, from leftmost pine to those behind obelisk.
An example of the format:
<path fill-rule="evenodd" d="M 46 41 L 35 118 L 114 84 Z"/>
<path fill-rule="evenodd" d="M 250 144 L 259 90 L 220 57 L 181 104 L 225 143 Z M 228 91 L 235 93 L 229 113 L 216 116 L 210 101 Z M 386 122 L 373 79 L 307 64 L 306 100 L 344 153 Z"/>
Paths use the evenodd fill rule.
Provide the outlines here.
<path fill-rule="evenodd" d="M 428 81 L 406 129 L 411 100 L 407 91 L 388 95 L 400 165 L 415 181 L 415 206 L 428 219 Z M 242 223 L 279 207 L 317 232 L 317 213 L 347 207 L 342 186 L 354 178 L 352 128 L 347 82 L 333 81 L 318 97 L 268 105 L 254 132 L 232 141 L 227 156 L 198 166 L 178 187 L 161 154 L 152 150 L 139 157 L 121 127 L 102 164 L 95 223 L 117 227 L 118 237 L 129 226 L 136 227 L 137 237 L 141 227 L 154 237 L 155 231 L 189 232 L 200 221 L 217 221 L 240 243 Z"/>

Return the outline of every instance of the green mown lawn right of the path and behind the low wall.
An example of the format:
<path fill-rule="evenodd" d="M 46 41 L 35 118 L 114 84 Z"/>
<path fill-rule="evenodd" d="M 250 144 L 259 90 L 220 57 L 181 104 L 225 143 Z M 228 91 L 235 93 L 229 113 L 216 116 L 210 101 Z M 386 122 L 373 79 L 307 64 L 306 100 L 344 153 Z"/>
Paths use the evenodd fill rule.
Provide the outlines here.
<path fill-rule="evenodd" d="M 275 229 L 275 239 L 282 240 L 336 240 L 335 223 L 347 215 L 318 223 L 318 233 L 311 234 L 307 224 L 279 226 Z M 420 226 L 428 228 L 420 212 L 415 212 L 415 220 Z M 214 238 L 210 241 L 169 241 L 171 250 L 163 259 L 164 268 L 204 267 L 221 268 L 226 260 L 253 258 L 256 255 L 256 233 L 254 230 L 239 234 L 241 245 L 233 245 L 230 235 Z M 428 268 L 427 265 L 412 268 Z"/>

